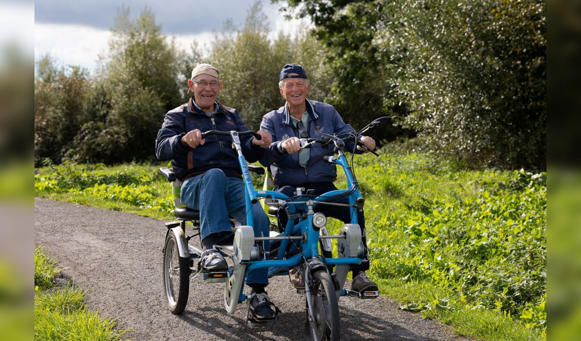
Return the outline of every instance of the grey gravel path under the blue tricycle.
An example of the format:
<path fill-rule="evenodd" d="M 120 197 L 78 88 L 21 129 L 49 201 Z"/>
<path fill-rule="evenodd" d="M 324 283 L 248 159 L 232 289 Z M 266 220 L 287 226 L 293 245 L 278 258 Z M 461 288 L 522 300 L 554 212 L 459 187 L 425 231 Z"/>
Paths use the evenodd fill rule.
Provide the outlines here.
<path fill-rule="evenodd" d="M 34 242 L 65 277 L 88 290 L 92 309 L 116 317 L 125 338 L 141 340 L 303 340 L 305 298 L 286 276 L 271 279 L 268 295 L 282 310 L 266 328 L 244 324 L 245 305 L 234 315 L 224 310 L 223 283 L 192 280 L 189 302 L 181 315 L 171 314 L 164 299 L 160 220 L 129 213 L 35 198 Z M 245 288 L 248 291 L 248 287 Z M 435 321 L 397 310 L 397 303 L 342 298 L 342 340 L 467 340 Z"/>

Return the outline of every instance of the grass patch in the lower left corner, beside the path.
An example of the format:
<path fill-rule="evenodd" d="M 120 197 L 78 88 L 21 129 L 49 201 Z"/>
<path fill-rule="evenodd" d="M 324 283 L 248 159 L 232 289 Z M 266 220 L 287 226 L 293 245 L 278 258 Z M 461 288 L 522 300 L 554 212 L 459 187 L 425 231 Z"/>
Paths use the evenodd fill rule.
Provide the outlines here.
<path fill-rule="evenodd" d="M 120 340 L 127 330 L 117 330 L 114 320 L 89 311 L 83 289 L 55 285 L 62 271 L 55 264 L 41 246 L 34 249 L 34 339 Z"/>

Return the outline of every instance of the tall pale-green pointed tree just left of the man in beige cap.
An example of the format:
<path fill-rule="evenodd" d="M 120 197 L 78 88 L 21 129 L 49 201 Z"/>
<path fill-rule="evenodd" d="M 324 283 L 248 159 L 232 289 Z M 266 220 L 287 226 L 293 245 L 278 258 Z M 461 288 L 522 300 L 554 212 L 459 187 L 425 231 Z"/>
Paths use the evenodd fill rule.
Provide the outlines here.
<path fill-rule="evenodd" d="M 145 8 L 130 19 L 121 8 L 114 19 L 109 53 L 100 60 L 95 84 L 105 96 L 105 114 L 80 129 L 67 155 L 75 161 L 123 162 L 152 158 L 153 141 L 168 110 L 182 103 L 178 84 L 186 60 Z"/>

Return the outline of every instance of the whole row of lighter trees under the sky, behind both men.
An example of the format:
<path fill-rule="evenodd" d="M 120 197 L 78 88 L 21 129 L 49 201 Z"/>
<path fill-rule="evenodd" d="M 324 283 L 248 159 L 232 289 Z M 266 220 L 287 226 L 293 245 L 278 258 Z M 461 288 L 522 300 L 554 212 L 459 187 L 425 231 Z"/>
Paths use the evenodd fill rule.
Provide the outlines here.
<path fill-rule="evenodd" d="M 261 5 L 255 3 L 245 25 L 227 22 L 203 56 L 195 42 L 188 53 L 166 39 L 150 10 L 132 18 L 128 9 L 121 9 L 109 52 L 93 74 L 60 66 L 48 55 L 36 61 L 35 166 L 45 158 L 55 164 L 155 160 L 157 130 L 167 111 L 188 101 L 186 79 L 199 63 L 221 71 L 224 86 L 218 100 L 238 109 L 253 130 L 264 114 L 284 104 L 278 74 L 286 63 L 302 63 L 310 70 L 311 82 L 317 82 L 310 97 L 323 100 L 329 86 L 318 57 L 322 45 L 307 31 L 293 38 L 279 34 L 274 42 L 269 33 Z"/>

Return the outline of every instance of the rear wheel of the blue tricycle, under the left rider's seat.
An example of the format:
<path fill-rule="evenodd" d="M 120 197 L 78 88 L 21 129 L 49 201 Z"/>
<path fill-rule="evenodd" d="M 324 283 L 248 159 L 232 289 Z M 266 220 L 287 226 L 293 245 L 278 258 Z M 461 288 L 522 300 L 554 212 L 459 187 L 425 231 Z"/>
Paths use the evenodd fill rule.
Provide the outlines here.
<path fill-rule="evenodd" d="M 188 259 L 180 257 L 177 238 L 174 231 L 170 231 L 163 251 L 163 284 L 167 307 L 172 314 L 181 314 L 188 303 L 189 274 Z"/>

